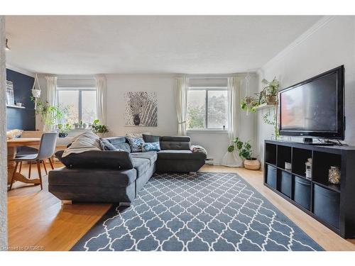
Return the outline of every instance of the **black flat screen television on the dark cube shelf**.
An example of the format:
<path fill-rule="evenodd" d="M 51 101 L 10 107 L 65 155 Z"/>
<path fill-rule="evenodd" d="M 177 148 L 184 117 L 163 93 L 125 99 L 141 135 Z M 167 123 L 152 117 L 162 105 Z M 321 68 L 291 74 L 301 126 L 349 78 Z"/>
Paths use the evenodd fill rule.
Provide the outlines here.
<path fill-rule="evenodd" d="M 278 93 L 280 135 L 344 140 L 344 65 Z"/>

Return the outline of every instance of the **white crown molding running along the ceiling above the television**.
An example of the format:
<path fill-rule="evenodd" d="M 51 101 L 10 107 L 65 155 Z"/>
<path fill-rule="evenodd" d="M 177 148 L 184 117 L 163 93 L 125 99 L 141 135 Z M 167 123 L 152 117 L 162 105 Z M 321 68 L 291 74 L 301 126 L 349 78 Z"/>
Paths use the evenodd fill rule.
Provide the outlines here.
<path fill-rule="evenodd" d="M 323 28 L 327 23 L 332 21 L 335 18 L 335 16 L 323 16 L 320 18 L 319 21 L 317 21 L 312 27 L 310 27 L 307 31 L 302 33 L 299 37 L 297 37 L 290 45 L 288 45 L 286 48 L 281 50 L 275 57 L 271 58 L 268 62 L 266 62 L 261 69 L 267 68 L 268 65 L 272 65 L 275 62 L 278 62 L 281 60 L 285 55 L 288 55 L 288 53 L 292 52 L 297 48 L 297 46 L 301 45 L 305 40 L 310 38 L 313 34 L 315 34 L 317 31 L 319 31 L 321 28 Z"/>

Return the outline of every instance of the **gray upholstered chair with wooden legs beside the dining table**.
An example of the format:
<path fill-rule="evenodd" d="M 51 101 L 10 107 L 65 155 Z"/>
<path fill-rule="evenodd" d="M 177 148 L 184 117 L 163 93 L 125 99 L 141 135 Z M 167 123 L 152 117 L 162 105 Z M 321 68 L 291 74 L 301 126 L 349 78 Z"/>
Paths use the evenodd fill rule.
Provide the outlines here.
<path fill-rule="evenodd" d="M 16 162 L 16 165 L 15 165 L 15 169 L 13 170 L 13 176 L 17 172 L 18 163 L 29 162 L 30 169 L 31 169 L 31 163 L 35 162 L 37 164 L 38 176 L 40 178 L 40 189 L 43 189 L 42 174 L 40 172 L 40 163 L 42 162 L 45 167 L 45 159 L 48 159 L 53 156 L 55 152 L 55 144 L 57 143 L 57 138 L 58 138 L 57 132 L 43 133 L 42 137 L 40 138 L 40 148 L 38 149 L 38 153 L 23 155 L 21 157 L 15 157 L 13 161 Z M 46 169 L 45 172 L 47 172 Z M 14 179 L 12 177 L 10 190 L 12 188 L 13 180 Z"/>

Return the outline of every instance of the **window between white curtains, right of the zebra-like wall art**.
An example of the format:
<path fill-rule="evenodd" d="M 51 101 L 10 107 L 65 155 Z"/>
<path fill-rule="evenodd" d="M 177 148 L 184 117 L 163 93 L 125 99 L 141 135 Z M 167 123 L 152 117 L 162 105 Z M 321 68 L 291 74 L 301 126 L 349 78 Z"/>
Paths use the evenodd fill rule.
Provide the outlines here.
<path fill-rule="evenodd" d="M 228 128 L 226 87 L 190 87 L 187 92 L 187 129 Z"/>

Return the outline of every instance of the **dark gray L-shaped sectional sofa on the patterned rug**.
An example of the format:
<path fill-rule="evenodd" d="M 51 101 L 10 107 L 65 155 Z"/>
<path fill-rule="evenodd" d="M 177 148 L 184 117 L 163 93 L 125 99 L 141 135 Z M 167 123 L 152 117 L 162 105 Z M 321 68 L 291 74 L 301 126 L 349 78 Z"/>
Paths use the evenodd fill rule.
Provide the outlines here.
<path fill-rule="evenodd" d="M 204 165 L 206 155 L 190 151 L 190 137 L 154 137 L 159 152 L 131 153 L 124 137 L 107 138 L 120 151 L 67 157 L 58 151 L 65 167 L 49 172 L 49 192 L 61 200 L 130 204 L 154 172 L 197 172 Z"/>

